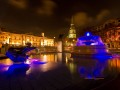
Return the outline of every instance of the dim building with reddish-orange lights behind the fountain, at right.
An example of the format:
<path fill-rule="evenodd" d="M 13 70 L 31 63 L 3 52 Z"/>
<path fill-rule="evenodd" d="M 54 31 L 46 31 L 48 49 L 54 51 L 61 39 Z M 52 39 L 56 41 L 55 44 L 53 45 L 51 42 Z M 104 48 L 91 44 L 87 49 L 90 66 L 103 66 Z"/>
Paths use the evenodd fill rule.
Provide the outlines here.
<path fill-rule="evenodd" d="M 110 19 L 91 30 L 101 36 L 103 42 L 109 48 L 120 48 L 120 19 Z"/>

